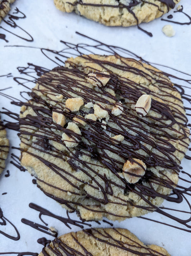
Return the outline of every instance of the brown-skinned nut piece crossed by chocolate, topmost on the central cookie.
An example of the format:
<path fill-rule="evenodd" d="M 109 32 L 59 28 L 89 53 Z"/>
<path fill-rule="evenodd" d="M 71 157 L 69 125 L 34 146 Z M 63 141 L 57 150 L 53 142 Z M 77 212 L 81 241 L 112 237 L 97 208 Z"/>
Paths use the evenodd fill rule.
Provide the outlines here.
<path fill-rule="evenodd" d="M 89 73 L 87 77 L 87 81 L 94 86 L 105 86 L 110 80 L 110 76 L 108 72 L 102 73 Z"/>

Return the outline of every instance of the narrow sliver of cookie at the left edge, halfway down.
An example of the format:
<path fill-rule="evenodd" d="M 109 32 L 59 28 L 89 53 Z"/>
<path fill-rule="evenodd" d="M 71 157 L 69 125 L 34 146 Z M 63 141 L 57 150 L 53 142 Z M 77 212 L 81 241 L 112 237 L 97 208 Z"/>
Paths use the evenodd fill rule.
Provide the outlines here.
<path fill-rule="evenodd" d="M 0 174 L 5 168 L 5 159 L 9 152 L 9 140 L 6 138 L 6 130 L 0 120 Z"/>

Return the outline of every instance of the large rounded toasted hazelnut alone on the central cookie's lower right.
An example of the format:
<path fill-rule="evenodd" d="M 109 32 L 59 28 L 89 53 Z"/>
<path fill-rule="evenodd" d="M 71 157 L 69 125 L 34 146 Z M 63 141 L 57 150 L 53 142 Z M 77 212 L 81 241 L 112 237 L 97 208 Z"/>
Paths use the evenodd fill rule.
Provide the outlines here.
<path fill-rule="evenodd" d="M 123 176 L 129 183 L 136 183 L 145 174 L 147 166 L 140 159 L 127 160 L 123 166 Z"/>

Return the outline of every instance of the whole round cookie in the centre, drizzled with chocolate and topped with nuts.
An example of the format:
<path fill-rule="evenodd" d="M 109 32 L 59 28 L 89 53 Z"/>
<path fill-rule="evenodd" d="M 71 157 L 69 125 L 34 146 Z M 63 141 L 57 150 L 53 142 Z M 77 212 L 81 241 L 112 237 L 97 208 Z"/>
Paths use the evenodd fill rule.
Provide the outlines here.
<path fill-rule="evenodd" d="M 119 56 L 70 58 L 39 78 L 21 108 L 21 164 L 82 219 L 121 221 L 155 211 L 176 187 L 186 122 L 180 93 L 158 69 Z"/>

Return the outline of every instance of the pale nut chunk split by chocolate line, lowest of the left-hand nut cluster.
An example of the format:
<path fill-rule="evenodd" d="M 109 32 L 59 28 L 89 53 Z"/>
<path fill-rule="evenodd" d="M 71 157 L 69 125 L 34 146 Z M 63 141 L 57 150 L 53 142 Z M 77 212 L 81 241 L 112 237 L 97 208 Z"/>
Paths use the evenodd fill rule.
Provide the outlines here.
<path fill-rule="evenodd" d="M 77 137 L 76 135 L 77 134 L 81 135 L 80 129 L 75 123 L 69 122 L 67 126 L 67 130 L 68 130 L 67 133 L 62 134 L 62 140 L 64 141 L 66 147 L 68 148 L 76 147 L 79 143 L 79 139 L 76 138 Z"/>

